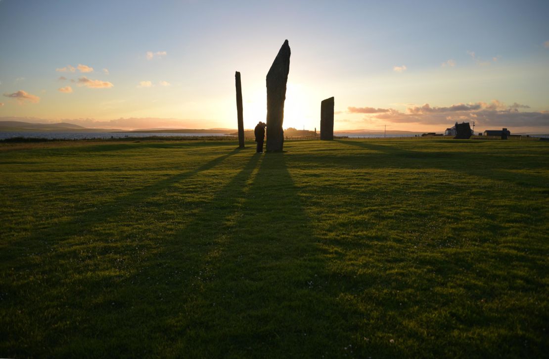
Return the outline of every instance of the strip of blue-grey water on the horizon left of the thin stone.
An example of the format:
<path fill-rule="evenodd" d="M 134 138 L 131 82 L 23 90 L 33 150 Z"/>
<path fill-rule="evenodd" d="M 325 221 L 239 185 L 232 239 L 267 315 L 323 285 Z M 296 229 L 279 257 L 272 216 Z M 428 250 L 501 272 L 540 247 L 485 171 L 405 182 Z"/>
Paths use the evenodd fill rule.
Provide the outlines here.
<path fill-rule="evenodd" d="M 186 137 L 186 136 L 233 136 L 225 133 L 124 133 L 124 132 L 0 132 L 0 140 L 24 137 L 24 138 L 46 138 L 48 140 L 87 140 L 87 139 L 110 139 L 110 138 L 142 138 L 151 136 L 161 137 Z"/>

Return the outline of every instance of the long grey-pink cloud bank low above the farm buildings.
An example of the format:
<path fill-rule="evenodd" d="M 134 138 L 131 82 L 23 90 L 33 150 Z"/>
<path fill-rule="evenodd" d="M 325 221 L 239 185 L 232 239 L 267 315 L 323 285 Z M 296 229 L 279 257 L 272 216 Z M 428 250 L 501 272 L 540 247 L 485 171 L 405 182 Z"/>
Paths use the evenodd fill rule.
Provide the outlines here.
<path fill-rule="evenodd" d="M 353 109 L 373 109 L 373 107 L 349 107 Z M 549 111 L 519 111 L 529 109 L 528 105 L 514 102 L 512 105 L 492 100 L 490 102 L 471 102 L 468 104 L 455 104 L 450 106 L 422 106 L 408 107 L 406 111 L 395 109 L 375 109 L 376 112 L 352 112 L 365 113 L 365 121 L 380 119 L 393 123 L 421 123 L 440 124 L 447 126 L 456 121 L 475 121 L 484 127 L 547 127 L 549 126 Z M 382 111 L 378 111 L 382 110 Z"/>

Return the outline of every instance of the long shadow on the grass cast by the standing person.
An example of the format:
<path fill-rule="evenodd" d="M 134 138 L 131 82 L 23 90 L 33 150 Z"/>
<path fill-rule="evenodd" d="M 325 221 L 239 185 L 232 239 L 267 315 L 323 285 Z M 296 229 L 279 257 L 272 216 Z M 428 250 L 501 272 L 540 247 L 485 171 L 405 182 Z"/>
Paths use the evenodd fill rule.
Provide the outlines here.
<path fill-rule="evenodd" d="M 79 273 L 72 283 L 74 292 L 68 297 L 82 299 L 75 314 L 80 313 L 86 324 L 77 327 L 69 320 L 67 329 L 52 335 L 60 348 L 58 354 L 75 356 L 95 348 L 98 356 L 124 356 L 126 350 L 131 356 L 142 352 L 166 355 L 178 338 L 174 337 L 173 326 L 180 330 L 180 325 L 194 327 L 199 324 L 193 320 L 206 320 L 189 318 L 189 314 L 194 314 L 201 303 L 204 283 L 214 276 L 210 263 L 216 260 L 224 238 L 231 235 L 231 223 L 260 158 L 250 157 L 180 231 L 163 238 L 147 255 L 133 250 L 137 243 L 126 247 L 120 255 L 131 263 L 130 276 L 120 278 L 114 274 L 120 266 L 117 261 L 110 264 L 110 269 L 92 276 Z M 108 259 L 105 253 L 94 261 L 108 267 Z M 82 270 L 85 266 L 77 272 Z M 74 299 L 64 304 L 71 303 L 74 305 Z M 181 315 L 186 318 L 183 323 L 176 320 Z"/>

